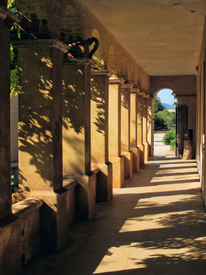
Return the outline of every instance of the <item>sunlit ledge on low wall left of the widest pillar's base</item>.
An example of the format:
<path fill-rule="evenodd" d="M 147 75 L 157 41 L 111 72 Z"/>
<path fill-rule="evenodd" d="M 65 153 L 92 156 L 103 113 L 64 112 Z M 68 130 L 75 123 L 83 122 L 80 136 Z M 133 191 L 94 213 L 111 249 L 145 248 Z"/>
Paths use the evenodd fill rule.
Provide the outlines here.
<path fill-rule="evenodd" d="M 43 205 L 43 199 L 27 198 L 12 205 L 12 213 L 18 217 L 24 216 Z"/>

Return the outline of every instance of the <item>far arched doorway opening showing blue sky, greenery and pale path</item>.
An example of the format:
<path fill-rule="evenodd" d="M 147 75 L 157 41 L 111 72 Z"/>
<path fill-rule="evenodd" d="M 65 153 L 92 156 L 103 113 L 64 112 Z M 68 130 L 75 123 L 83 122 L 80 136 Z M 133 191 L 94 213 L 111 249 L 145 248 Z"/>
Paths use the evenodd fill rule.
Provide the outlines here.
<path fill-rule="evenodd" d="M 176 95 L 172 89 L 154 94 L 154 155 L 176 153 Z"/>

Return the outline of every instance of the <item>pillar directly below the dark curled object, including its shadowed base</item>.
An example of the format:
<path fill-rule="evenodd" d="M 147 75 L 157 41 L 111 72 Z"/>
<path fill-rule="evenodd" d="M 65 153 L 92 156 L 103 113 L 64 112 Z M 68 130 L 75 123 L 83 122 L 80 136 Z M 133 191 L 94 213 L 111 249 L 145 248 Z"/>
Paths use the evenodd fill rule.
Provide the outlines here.
<path fill-rule="evenodd" d="M 78 182 L 76 216 L 95 214 L 96 175 L 91 172 L 91 60 L 63 64 L 62 148 L 63 176 Z"/>

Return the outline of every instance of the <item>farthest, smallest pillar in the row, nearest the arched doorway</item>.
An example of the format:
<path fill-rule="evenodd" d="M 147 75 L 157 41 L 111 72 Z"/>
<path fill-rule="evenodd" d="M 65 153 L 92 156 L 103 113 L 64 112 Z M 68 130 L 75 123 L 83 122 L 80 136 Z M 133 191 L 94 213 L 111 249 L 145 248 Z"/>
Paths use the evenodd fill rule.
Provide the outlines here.
<path fill-rule="evenodd" d="M 154 112 L 152 110 L 152 97 L 146 98 L 146 104 L 147 104 L 147 140 L 149 144 L 149 157 L 152 157 L 154 155 L 152 151 L 152 144 L 154 144 L 154 127 L 153 127 L 153 115 Z"/>

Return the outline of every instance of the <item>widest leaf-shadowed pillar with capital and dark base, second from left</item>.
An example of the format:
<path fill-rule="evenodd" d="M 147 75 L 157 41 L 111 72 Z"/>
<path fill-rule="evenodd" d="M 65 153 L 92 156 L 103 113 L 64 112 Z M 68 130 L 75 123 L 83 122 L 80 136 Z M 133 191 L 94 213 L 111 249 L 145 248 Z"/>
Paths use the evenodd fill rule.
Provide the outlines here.
<path fill-rule="evenodd" d="M 16 41 L 19 64 L 19 188 L 43 199 L 41 244 L 68 240 L 69 190 L 62 186 L 62 54 L 56 39 Z"/>

